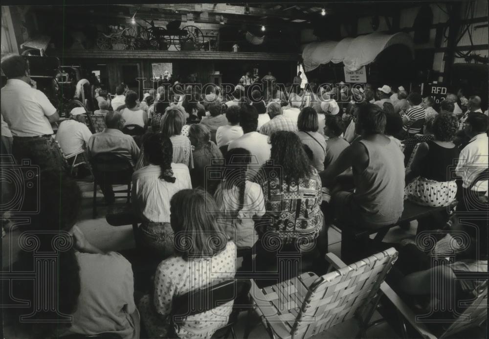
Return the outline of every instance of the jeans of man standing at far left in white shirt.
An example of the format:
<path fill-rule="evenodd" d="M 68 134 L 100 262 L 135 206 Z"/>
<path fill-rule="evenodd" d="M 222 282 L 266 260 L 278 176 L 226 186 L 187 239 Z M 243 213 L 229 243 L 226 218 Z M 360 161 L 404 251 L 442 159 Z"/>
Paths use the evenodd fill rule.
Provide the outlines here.
<path fill-rule="evenodd" d="M 61 149 L 51 136 L 14 136 L 12 153 L 19 164 L 28 160 L 31 165 L 38 165 L 41 171 L 67 170 Z"/>

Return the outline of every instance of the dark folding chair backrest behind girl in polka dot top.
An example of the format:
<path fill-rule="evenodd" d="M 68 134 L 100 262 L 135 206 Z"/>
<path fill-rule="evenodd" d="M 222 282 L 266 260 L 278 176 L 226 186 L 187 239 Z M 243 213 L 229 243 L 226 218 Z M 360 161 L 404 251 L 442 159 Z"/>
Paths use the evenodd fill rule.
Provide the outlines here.
<path fill-rule="evenodd" d="M 248 279 L 233 279 L 173 298 L 173 322 L 207 312 L 230 301 L 241 299 L 250 289 Z"/>

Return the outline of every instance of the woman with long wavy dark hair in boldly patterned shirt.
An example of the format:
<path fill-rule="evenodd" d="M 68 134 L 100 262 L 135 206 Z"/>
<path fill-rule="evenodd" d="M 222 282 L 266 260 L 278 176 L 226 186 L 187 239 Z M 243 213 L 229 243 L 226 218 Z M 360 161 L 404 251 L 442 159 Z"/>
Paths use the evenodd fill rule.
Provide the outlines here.
<path fill-rule="evenodd" d="M 321 179 L 297 134 L 278 131 L 270 136 L 270 143 L 272 161 L 257 178 L 269 220 L 262 233 L 278 236 L 286 244 L 313 240 L 323 226 Z"/>

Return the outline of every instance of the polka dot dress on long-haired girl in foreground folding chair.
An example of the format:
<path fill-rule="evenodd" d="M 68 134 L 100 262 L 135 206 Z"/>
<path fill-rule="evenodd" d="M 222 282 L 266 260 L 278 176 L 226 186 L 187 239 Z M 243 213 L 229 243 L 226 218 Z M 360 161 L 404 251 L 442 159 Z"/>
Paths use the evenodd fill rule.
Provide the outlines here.
<path fill-rule="evenodd" d="M 226 248 L 211 258 L 185 261 L 181 257 L 163 260 L 156 269 L 154 295 L 145 295 L 139 302 L 141 319 L 150 338 L 168 338 L 174 295 L 232 279 L 236 273 L 236 246 Z M 224 326 L 232 311 L 233 302 L 208 312 L 188 316 L 174 324 L 178 338 L 210 338 Z"/>

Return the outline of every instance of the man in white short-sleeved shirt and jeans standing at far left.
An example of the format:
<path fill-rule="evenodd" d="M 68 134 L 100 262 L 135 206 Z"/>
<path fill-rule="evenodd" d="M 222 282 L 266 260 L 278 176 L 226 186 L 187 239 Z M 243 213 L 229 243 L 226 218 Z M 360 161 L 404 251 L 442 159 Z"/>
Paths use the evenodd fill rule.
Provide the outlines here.
<path fill-rule="evenodd" d="M 1 60 L 7 77 L 1 89 L 1 112 L 13 136 L 12 153 L 19 163 L 28 159 L 41 169 L 61 170 L 64 163 L 54 141 L 51 123 L 59 120 L 46 95 L 31 86 L 29 63 L 20 55 Z"/>

